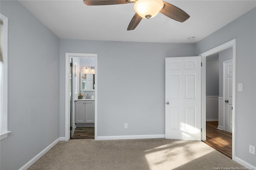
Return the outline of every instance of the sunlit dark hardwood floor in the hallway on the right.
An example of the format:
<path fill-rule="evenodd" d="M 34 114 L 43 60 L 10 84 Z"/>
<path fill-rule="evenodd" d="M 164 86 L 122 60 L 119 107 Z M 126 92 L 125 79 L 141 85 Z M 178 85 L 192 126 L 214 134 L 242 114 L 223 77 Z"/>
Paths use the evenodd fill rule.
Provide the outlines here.
<path fill-rule="evenodd" d="M 204 143 L 232 159 L 232 133 L 217 129 L 218 121 L 206 122 Z"/>

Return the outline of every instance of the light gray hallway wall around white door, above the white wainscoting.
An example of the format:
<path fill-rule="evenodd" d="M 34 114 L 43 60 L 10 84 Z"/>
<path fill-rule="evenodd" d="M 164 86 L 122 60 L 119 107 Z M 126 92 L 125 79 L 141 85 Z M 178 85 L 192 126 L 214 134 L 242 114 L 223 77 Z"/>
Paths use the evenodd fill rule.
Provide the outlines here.
<path fill-rule="evenodd" d="M 228 48 L 219 52 L 219 96 L 223 97 L 223 62 L 233 58 L 233 48 Z"/>

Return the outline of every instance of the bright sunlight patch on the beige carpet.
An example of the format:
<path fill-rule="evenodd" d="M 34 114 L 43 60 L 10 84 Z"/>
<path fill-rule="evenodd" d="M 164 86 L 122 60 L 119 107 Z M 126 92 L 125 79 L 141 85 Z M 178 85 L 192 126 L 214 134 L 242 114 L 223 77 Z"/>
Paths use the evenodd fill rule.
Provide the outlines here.
<path fill-rule="evenodd" d="M 212 148 L 202 142 L 189 140 L 179 140 L 144 151 L 148 166 L 152 170 L 163 167 L 171 170 L 210 152 L 213 152 Z"/>

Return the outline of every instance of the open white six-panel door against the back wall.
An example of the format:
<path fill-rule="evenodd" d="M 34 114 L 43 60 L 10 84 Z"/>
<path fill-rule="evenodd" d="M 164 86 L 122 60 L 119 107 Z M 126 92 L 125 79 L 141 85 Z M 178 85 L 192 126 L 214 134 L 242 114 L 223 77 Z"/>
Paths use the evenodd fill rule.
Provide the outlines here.
<path fill-rule="evenodd" d="M 201 57 L 165 59 L 165 138 L 201 140 Z"/>

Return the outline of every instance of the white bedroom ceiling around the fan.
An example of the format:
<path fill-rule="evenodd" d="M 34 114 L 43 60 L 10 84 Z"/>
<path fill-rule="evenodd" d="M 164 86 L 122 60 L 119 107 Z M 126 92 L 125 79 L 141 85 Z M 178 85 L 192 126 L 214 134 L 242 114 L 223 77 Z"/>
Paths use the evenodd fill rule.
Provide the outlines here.
<path fill-rule="evenodd" d="M 256 7 L 256 0 L 179 0 L 171 3 L 190 15 L 176 22 L 159 13 L 127 31 L 133 4 L 86 6 L 82 0 L 19 0 L 61 39 L 195 43 Z M 193 41 L 188 38 L 196 37 Z"/>

